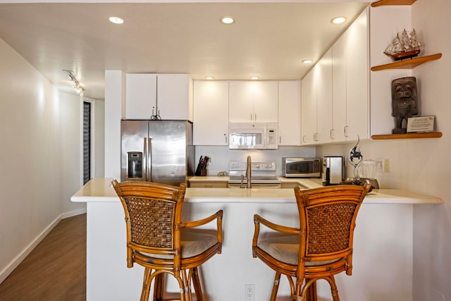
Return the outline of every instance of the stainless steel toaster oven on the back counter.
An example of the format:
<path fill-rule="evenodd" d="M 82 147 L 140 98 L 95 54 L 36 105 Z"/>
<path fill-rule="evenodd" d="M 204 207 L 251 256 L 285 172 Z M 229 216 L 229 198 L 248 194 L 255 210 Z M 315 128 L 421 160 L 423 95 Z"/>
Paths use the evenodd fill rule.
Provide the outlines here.
<path fill-rule="evenodd" d="M 321 160 L 318 158 L 282 158 L 285 178 L 321 178 Z"/>

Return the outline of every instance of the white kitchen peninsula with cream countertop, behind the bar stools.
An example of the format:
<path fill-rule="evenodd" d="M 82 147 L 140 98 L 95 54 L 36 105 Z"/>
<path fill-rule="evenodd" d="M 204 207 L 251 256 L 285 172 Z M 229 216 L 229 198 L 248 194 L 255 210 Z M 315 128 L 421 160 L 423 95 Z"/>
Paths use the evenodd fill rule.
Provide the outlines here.
<path fill-rule="evenodd" d="M 90 180 L 71 197 L 72 202 L 87 202 L 87 300 L 138 300 L 142 267 L 126 267 L 124 213 L 111 180 Z M 296 180 L 304 188 L 321 185 L 319 179 Z M 367 195 L 354 233 L 353 276 L 337 277 L 342 299 L 412 300 L 413 206 L 440 202 L 439 197 L 402 190 L 374 190 Z M 252 258 L 253 216 L 298 226 L 294 191 L 187 188 L 185 220 L 218 209 L 224 211 L 223 252 L 201 267 L 206 300 L 245 300 L 245 284 L 254 284 L 255 300 L 268 300 L 273 271 Z M 177 291 L 171 280 L 168 288 Z M 318 288 L 319 296 L 329 296 L 327 285 L 320 282 Z M 286 279 L 279 290 L 280 296 L 289 295 Z"/>

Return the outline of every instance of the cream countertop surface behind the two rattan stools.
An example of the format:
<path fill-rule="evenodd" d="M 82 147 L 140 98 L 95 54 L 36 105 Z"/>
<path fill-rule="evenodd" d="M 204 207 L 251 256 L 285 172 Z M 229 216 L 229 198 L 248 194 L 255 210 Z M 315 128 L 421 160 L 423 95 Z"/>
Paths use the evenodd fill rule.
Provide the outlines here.
<path fill-rule="evenodd" d="M 202 177 L 215 178 L 215 177 Z M 219 177 L 216 177 L 219 178 Z M 111 186 L 112 178 L 89 180 L 70 200 L 72 202 L 118 202 Z M 213 179 L 214 180 L 214 179 Z M 300 182 L 302 187 L 321 187 L 321 179 L 285 179 Z M 191 203 L 294 203 L 292 188 L 187 188 L 185 202 Z M 366 195 L 364 204 L 439 204 L 443 199 L 406 190 L 377 189 Z"/>

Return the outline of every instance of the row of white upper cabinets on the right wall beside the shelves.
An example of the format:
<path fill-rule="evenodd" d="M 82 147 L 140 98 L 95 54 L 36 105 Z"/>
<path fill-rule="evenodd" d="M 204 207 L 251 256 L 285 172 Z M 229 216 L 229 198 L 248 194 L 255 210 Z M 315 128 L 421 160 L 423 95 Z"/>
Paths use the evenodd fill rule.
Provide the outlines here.
<path fill-rule="evenodd" d="M 368 11 L 302 80 L 302 145 L 369 138 Z"/>

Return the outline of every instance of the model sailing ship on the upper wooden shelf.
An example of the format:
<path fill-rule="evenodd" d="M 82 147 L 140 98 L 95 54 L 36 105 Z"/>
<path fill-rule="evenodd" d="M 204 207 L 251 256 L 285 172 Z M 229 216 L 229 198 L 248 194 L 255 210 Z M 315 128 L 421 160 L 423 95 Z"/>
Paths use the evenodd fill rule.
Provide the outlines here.
<path fill-rule="evenodd" d="M 420 53 L 420 42 L 416 37 L 415 30 L 398 32 L 393 42 L 383 51 L 395 61 L 410 59 Z"/>

